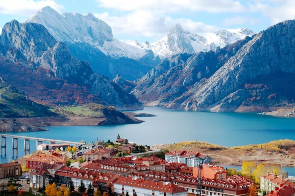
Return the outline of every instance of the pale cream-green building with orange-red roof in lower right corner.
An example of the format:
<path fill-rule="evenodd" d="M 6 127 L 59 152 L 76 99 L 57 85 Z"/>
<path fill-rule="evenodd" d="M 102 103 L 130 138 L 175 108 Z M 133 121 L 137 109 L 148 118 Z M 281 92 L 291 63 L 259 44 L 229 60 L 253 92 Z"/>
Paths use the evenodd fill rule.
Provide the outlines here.
<path fill-rule="evenodd" d="M 260 189 L 266 192 L 271 192 L 272 190 L 275 190 L 276 187 L 281 187 L 281 185 L 286 184 L 295 186 L 293 182 L 284 179 L 280 175 L 268 173 L 268 175 L 260 177 Z"/>

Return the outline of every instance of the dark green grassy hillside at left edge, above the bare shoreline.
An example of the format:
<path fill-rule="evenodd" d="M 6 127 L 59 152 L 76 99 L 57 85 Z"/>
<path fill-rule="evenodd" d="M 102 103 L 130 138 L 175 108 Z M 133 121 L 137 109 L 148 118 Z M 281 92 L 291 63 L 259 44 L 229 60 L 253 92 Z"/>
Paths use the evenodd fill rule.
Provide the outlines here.
<path fill-rule="evenodd" d="M 13 87 L 0 87 L 0 117 L 39 117 L 55 115 L 50 108 L 27 99 Z"/>

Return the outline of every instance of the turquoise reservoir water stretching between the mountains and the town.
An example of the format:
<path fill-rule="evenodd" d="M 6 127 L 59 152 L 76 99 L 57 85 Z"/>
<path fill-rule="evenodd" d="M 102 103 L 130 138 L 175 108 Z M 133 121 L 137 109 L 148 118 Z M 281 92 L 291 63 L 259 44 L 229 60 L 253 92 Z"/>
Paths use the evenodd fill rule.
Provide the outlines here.
<path fill-rule="evenodd" d="M 278 139 L 295 140 L 295 119 L 276 118 L 255 113 L 212 113 L 145 107 L 135 112 L 150 113 L 156 117 L 138 117 L 145 123 L 105 126 L 47 127 L 50 131 L 9 133 L 38 138 L 86 142 L 112 140 L 120 134 L 130 142 L 142 145 L 176 143 L 187 140 L 206 141 L 224 146 L 265 143 Z M 19 139 L 19 157 L 23 156 L 23 140 Z M 36 149 L 30 142 L 31 152 Z M 14 157 L 16 159 L 16 157 Z M 7 155 L 1 163 L 12 160 L 11 139 L 7 140 Z M 295 175 L 295 171 L 294 171 Z"/>

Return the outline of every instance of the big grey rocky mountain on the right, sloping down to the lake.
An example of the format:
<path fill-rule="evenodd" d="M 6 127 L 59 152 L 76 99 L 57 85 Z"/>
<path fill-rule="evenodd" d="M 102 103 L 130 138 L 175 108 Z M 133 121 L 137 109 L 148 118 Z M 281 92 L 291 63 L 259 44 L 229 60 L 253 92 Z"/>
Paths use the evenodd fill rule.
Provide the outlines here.
<path fill-rule="evenodd" d="M 163 68 L 155 78 L 146 75 L 132 92 L 147 105 L 188 110 L 294 106 L 294 35 L 295 20 L 278 23 L 251 38 Z"/>

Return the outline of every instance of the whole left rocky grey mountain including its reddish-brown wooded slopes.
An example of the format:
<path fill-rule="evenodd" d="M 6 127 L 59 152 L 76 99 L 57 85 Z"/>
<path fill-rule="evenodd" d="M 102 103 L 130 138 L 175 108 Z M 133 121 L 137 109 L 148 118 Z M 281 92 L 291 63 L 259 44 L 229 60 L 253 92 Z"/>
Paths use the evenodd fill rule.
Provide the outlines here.
<path fill-rule="evenodd" d="M 118 109 L 142 108 L 135 96 L 123 91 L 109 78 L 94 73 L 89 63 L 74 57 L 67 45 L 56 41 L 41 24 L 21 24 L 16 20 L 6 23 L 0 48 L 3 57 L 1 75 L 7 80 L 10 78 L 9 83 L 17 83 L 19 89 L 31 93 L 29 95 L 34 100 L 41 98 L 41 102 L 46 100 L 58 105 L 63 97 L 50 93 L 56 91 L 69 96 L 62 104 L 96 102 L 114 105 Z M 16 76 L 23 80 L 15 80 Z M 48 94 L 34 96 L 36 91 L 43 90 Z"/>

